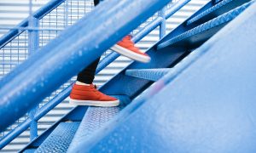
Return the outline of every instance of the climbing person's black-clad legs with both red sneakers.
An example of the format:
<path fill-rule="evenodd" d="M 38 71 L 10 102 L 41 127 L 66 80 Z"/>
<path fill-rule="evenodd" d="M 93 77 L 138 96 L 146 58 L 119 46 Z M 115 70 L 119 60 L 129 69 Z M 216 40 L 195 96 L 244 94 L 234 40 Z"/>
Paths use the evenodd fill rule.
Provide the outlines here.
<path fill-rule="evenodd" d="M 100 0 L 94 0 L 95 5 L 100 3 Z M 135 47 L 134 42 L 131 41 L 131 36 L 124 37 L 120 42 L 112 47 L 113 51 L 123 54 L 126 57 L 135 59 L 141 62 L 148 62 L 150 60 L 147 54 L 143 54 L 139 48 Z M 93 105 L 93 106 L 116 106 L 119 105 L 119 99 L 115 99 L 106 94 L 102 94 L 92 84 L 96 67 L 100 59 L 96 59 L 92 64 L 79 72 L 77 81 L 73 85 L 70 94 L 70 104 L 73 105 Z"/>

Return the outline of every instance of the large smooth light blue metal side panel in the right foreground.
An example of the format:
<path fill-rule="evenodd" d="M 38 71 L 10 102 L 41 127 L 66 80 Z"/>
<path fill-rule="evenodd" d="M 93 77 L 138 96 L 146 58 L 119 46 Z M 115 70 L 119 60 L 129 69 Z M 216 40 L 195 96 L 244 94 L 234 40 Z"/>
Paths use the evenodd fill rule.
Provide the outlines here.
<path fill-rule="evenodd" d="M 74 152 L 255 152 L 255 16 L 256 3 Z"/>

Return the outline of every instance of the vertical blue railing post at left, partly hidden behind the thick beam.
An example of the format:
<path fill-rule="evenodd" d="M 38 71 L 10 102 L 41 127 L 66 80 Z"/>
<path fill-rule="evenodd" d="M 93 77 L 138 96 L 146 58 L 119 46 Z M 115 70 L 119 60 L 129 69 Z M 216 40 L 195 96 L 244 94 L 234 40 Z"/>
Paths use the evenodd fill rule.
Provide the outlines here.
<path fill-rule="evenodd" d="M 28 30 L 28 55 L 33 54 L 37 49 L 38 49 L 38 44 L 39 44 L 39 35 L 38 35 L 38 30 L 33 28 L 38 28 L 39 27 L 39 21 L 38 19 L 34 18 L 32 16 L 32 0 L 29 2 L 29 22 L 28 22 L 28 27 L 31 28 Z M 38 111 L 38 106 L 32 111 L 28 113 L 28 116 L 32 120 L 30 124 L 30 140 L 35 139 L 38 137 L 38 121 L 34 119 L 35 114 Z"/>

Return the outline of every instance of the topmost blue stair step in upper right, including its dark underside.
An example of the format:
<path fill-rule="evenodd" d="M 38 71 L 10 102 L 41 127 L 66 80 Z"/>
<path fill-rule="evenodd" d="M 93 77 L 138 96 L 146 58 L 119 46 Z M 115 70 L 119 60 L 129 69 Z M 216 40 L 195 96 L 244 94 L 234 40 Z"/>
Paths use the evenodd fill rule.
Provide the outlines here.
<path fill-rule="evenodd" d="M 213 18 L 217 17 L 218 15 L 224 14 L 231 9 L 241 6 L 243 3 L 247 3 L 250 0 L 224 0 L 212 8 L 208 8 L 201 14 L 196 15 L 195 17 L 188 20 L 187 25 L 192 23 L 204 23 L 207 20 L 212 20 Z"/>

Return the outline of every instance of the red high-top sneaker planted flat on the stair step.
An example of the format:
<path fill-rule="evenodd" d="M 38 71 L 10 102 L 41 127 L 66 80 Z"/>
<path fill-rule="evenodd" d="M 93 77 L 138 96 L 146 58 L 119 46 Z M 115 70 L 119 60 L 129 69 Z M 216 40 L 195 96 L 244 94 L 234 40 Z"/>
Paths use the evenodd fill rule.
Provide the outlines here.
<path fill-rule="evenodd" d="M 119 105 L 119 99 L 102 94 L 93 84 L 90 86 L 74 84 L 69 103 L 72 105 L 113 107 Z"/>

